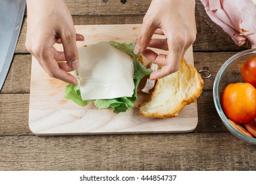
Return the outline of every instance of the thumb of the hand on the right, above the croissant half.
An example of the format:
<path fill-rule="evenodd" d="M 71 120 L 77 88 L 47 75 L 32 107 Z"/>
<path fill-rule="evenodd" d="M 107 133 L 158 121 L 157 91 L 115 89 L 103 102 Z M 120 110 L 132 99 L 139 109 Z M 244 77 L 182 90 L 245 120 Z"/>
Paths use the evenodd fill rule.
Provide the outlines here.
<path fill-rule="evenodd" d="M 140 35 L 136 39 L 136 46 L 134 47 L 134 54 L 138 55 L 145 51 L 147 45 L 149 45 L 149 41 L 153 36 L 155 30 L 157 30 L 157 26 L 152 22 L 144 22 L 141 26 Z"/>

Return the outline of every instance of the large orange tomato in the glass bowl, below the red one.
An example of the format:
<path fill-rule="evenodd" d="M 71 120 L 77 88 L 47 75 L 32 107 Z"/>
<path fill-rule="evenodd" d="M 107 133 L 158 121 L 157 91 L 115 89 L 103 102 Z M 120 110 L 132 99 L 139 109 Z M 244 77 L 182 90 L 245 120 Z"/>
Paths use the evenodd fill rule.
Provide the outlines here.
<path fill-rule="evenodd" d="M 250 83 L 230 83 L 222 93 L 222 109 L 233 122 L 250 122 L 256 116 L 255 87 Z"/>

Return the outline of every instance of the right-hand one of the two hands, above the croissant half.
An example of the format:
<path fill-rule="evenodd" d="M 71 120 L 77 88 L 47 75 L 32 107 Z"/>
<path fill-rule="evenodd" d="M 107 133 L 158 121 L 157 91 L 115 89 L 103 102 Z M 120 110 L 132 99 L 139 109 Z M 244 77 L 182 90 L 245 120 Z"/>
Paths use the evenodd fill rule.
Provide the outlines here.
<path fill-rule="evenodd" d="M 195 41 L 196 33 L 194 0 L 151 1 L 134 48 L 134 53 L 142 53 L 151 62 L 162 66 L 151 73 L 150 80 L 178 71 L 180 60 Z M 166 38 L 151 39 L 153 34 Z M 168 55 L 158 55 L 147 47 L 163 49 Z"/>

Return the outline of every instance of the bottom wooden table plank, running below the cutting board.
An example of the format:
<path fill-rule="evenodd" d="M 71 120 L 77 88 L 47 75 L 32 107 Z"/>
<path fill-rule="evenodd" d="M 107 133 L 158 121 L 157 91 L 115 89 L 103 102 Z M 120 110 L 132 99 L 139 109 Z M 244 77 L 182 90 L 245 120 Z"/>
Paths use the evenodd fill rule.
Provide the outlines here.
<path fill-rule="evenodd" d="M 256 170 L 230 133 L 11 136 L 0 150 L 0 170 Z"/>

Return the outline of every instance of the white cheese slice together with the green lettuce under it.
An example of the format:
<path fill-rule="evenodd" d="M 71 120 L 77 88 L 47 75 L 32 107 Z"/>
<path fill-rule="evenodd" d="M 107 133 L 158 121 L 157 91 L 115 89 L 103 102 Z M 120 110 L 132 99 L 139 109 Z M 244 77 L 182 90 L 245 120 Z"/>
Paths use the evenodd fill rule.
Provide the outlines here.
<path fill-rule="evenodd" d="M 78 85 L 66 85 L 65 98 L 80 106 L 93 100 L 97 108 L 125 112 L 137 99 L 140 80 L 151 74 L 134 54 L 135 43 L 99 42 L 78 49 Z"/>

